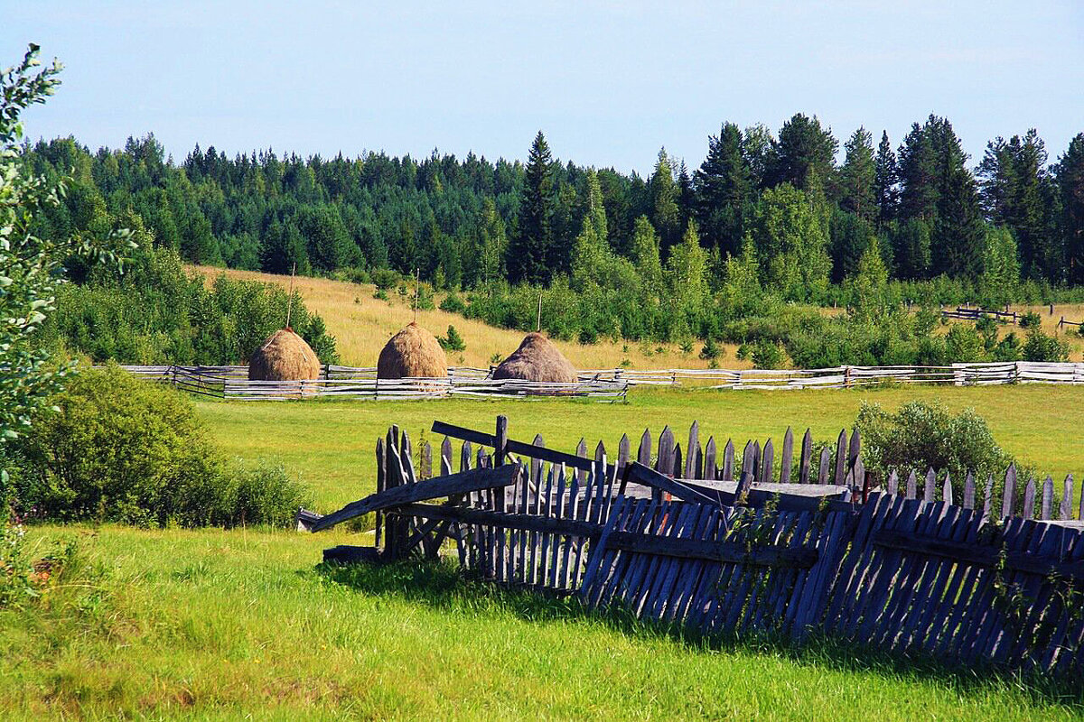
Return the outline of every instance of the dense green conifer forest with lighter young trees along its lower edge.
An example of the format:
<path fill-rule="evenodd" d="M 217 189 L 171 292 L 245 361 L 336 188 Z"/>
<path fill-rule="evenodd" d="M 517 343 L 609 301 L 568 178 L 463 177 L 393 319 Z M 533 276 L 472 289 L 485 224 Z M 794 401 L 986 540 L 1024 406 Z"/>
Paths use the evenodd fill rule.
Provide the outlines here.
<path fill-rule="evenodd" d="M 798 114 L 777 134 L 724 123 L 695 169 L 660 150 L 650 178 L 555 161 L 541 132 L 526 165 L 198 146 L 178 163 L 153 135 L 120 150 L 39 142 L 25 157 L 69 178 L 42 234 L 139 216 L 158 249 L 142 253 L 193 263 L 296 264 L 384 288 L 416 270 L 449 291 L 446 310 L 507 327 L 532 328 L 541 294 L 542 325 L 562 338 L 699 339 L 708 356 L 727 340 L 766 366 L 1064 357 L 1037 329 L 932 330 L 939 303 L 1084 298 L 1084 133 L 1056 159 L 1035 131 L 997 137 L 972 166 L 930 116 L 898 145 L 860 128 L 839 150 Z M 93 313 L 72 306 L 93 294 L 67 294 L 54 333 L 86 351 L 78 317 Z M 152 343 L 120 360 L 163 353 Z"/>

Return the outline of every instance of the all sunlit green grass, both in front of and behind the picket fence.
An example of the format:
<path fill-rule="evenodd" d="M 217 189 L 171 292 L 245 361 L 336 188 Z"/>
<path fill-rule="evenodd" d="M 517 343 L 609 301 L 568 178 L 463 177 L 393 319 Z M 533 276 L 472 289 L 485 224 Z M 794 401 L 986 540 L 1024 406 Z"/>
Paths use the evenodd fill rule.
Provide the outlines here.
<path fill-rule="evenodd" d="M 531 401 L 198 403 L 231 454 L 278 459 L 327 511 L 373 487 L 391 422 L 436 419 L 513 437 L 580 436 L 669 422 L 682 437 L 830 438 L 860 403 L 975 407 L 1011 452 L 1084 471 L 1084 390 L 1054 386 L 829 392 L 636 391 L 627 405 Z M 430 441 L 431 436 L 430 436 Z M 848 651 L 750 641 L 715 646 L 586 615 L 575 604 L 459 580 L 449 568 L 327 570 L 321 550 L 365 537 L 261 529 L 33 528 L 38 555 L 77 537 L 85 572 L 30 609 L 0 612 L 0 719 L 1080 719 L 1012 680 L 946 674 Z"/>

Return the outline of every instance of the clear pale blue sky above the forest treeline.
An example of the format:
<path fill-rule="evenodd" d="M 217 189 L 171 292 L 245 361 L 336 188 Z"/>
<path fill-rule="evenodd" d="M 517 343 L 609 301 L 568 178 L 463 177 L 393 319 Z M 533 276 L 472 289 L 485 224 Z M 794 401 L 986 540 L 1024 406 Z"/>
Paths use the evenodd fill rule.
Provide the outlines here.
<path fill-rule="evenodd" d="M 63 2 L 0 0 L 0 65 L 66 65 L 31 137 L 96 148 L 147 132 L 180 160 L 273 147 L 691 167 L 724 120 L 816 114 L 898 146 L 947 116 L 972 155 L 1084 131 L 1084 2 Z"/>

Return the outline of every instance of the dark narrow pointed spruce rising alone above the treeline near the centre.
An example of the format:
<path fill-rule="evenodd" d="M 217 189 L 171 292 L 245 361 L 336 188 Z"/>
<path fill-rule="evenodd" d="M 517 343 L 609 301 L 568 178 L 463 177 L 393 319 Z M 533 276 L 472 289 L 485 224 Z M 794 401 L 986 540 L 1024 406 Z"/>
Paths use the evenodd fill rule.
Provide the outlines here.
<path fill-rule="evenodd" d="M 526 178 L 519 202 L 519 215 L 507 266 L 513 280 L 545 283 L 550 279 L 549 254 L 553 246 L 550 214 L 553 209 L 553 156 L 542 131 L 534 136 L 527 157 Z"/>

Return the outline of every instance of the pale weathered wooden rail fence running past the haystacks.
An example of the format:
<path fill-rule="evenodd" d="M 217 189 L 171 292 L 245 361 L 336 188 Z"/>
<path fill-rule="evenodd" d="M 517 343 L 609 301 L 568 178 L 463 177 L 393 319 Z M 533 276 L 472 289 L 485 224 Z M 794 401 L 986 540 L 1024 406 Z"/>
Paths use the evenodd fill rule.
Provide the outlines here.
<path fill-rule="evenodd" d="M 853 389 L 885 383 L 942 383 L 957 386 L 1010 383 L 1084 384 L 1084 363 L 1006 362 L 950 366 L 834 366 L 818 369 L 655 369 L 580 371 L 576 383 L 494 380 L 492 369 L 452 367 L 438 379 L 377 379 L 373 367 L 324 365 L 312 381 L 249 381 L 246 366 L 124 366 L 141 378 L 183 391 L 231 401 L 345 397 L 370 399 L 447 396 L 589 397 L 624 399 L 629 386 L 705 389 Z"/>

